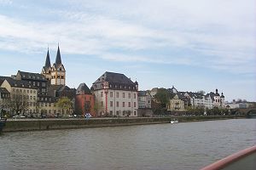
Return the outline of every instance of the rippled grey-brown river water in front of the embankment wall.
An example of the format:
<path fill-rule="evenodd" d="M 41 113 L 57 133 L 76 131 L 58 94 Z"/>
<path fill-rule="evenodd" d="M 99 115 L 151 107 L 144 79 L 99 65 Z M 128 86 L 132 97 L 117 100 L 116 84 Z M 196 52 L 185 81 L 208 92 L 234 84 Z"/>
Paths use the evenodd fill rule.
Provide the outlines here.
<path fill-rule="evenodd" d="M 256 144 L 256 119 L 3 133 L 0 169 L 200 169 Z"/>

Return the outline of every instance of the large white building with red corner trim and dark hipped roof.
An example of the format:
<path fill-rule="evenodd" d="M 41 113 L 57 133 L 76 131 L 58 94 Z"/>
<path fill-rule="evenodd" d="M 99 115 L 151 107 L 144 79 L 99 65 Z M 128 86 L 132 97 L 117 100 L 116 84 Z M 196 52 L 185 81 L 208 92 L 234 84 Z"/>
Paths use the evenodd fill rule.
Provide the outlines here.
<path fill-rule="evenodd" d="M 105 72 L 92 85 L 97 116 L 137 116 L 138 83 L 124 74 Z"/>

